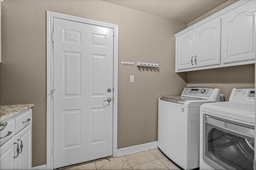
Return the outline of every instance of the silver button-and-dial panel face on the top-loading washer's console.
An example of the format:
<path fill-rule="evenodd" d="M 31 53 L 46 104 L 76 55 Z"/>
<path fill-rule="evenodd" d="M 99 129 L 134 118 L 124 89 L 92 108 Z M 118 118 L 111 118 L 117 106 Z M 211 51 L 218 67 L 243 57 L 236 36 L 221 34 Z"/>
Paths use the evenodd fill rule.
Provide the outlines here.
<path fill-rule="evenodd" d="M 187 87 L 183 90 L 182 95 L 192 96 L 192 97 L 206 97 L 210 98 L 214 88 L 191 88 Z"/>

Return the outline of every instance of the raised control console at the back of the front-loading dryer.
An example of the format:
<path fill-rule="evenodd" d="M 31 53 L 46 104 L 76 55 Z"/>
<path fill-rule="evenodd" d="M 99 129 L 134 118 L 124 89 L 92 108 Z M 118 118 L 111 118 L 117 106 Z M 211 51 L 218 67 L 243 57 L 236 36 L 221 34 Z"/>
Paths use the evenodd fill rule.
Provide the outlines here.
<path fill-rule="evenodd" d="M 255 90 L 253 88 L 234 88 L 230 94 L 229 101 L 255 102 Z"/>

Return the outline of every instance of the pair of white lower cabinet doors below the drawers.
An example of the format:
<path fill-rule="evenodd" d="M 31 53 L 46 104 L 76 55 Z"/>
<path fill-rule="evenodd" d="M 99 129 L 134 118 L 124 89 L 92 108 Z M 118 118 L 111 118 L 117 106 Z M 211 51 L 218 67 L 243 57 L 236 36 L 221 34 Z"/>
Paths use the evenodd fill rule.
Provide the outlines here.
<path fill-rule="evenodd" d="M 0 170 L 31 169 L 31 123 L 0 147 Z"/>

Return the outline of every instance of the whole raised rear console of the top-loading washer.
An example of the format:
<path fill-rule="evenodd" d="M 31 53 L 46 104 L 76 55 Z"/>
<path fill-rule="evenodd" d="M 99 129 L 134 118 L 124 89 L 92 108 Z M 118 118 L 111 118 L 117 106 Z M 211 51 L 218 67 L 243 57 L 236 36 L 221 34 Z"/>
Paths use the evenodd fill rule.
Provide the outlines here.
<path fill-rule="evenodd" d="M 220 100 L 220 90 L 217 88 L 207 87 L 186 87 L 181 96 L 194 97 L 194 98 L 212 98 L 214 100 Z"/>

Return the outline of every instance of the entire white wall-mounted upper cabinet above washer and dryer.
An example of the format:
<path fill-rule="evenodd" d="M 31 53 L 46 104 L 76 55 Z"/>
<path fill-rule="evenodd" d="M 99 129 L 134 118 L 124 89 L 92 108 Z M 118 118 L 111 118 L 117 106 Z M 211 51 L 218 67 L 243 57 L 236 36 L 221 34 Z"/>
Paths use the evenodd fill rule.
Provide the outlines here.
<path fill-rule="evenodd" d="M 241 0 L 176 33 L 176 72 L 254 63 L 255 14 L 255 0 Z"/>

